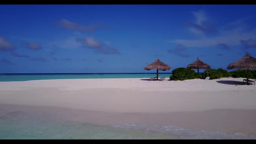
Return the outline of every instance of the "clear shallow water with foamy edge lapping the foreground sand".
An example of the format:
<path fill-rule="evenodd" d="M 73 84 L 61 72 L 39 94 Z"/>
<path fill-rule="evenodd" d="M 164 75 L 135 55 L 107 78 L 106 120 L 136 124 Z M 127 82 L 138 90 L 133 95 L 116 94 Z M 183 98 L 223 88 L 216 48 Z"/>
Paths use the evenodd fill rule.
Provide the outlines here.
<path fill-rule="evenodd" d="M 102 126 L 24 111 L 0 115 L 0 139 L 256 139 L 256 135 L 195 131 L 173 125 Z"/>

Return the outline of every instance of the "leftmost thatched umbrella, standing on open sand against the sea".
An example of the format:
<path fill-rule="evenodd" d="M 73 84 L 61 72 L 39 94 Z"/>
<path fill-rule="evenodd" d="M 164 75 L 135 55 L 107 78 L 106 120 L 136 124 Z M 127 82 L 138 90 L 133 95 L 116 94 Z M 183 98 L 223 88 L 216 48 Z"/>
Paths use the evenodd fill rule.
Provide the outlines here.
<path fill-rule="evenodd" d="M 164 62 L 161 62 L 159 59 L 157 59 L 153 63 L 147 65 L 144 69 L 146 69 L 146 70 L 157 69 L 157 80 L 158 80 L 158 69 L 165 71 L 165 70 L 170 70 L 171 68 L 169 65 L 167 65 Z"/>

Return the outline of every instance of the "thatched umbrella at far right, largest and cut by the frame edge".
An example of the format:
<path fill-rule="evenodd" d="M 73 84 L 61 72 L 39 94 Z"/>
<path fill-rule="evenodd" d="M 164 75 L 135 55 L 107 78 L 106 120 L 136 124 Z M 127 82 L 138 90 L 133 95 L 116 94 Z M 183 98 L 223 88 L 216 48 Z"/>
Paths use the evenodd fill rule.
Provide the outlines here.
<path fill-rule="evenodd" d="M 226 69 L 247 69 L 246 77 L 247 85 L 249 85 L 249 69 L 256 69 L 256 59 L 252 56 L 249 56 L 248 52 L 246 52 L 246 55 L 243 58 L 229 64 Z"/>

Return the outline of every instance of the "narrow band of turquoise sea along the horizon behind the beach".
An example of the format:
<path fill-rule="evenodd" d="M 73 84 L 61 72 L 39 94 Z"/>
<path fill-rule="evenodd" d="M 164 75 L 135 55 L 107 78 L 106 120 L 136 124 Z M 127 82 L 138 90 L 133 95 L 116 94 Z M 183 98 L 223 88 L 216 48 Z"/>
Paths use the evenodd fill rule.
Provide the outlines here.
<path fill-rule="evenodd" d="M 159 73 L 158 77 L 169 79 L 171 73 Z M 41 79 L 113 79 L 151 78 L 156 73 L 88 73 L 88 74 L 0 74 L 0 82 L 30 81 Z"/>

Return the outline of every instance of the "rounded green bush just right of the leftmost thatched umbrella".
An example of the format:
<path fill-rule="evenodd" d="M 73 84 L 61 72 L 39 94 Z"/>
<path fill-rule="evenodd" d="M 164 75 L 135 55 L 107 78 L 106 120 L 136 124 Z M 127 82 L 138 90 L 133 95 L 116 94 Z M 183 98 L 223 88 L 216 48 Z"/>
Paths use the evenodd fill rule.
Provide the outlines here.
<path fill-rule="evenodd" d="M 177 68 L 177 69 L 172 70 L 172 75 L 170 76 L 170 80 L 184 81 L 186 79 L 199 79 L 200 77 L 201 77 L 200 74 L 196 73 L 192 69 Z"/>

